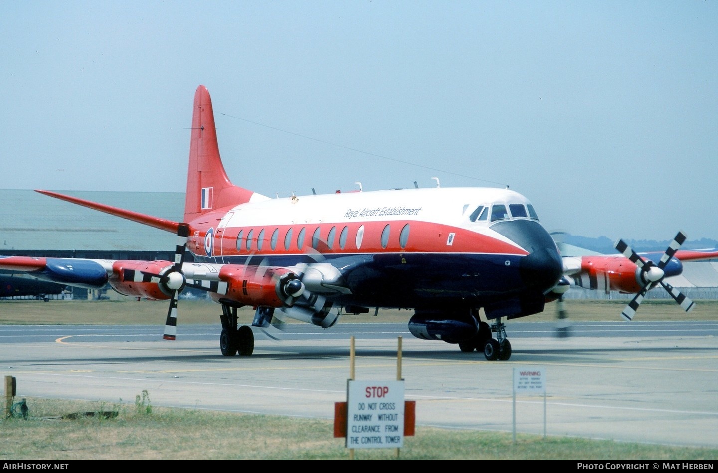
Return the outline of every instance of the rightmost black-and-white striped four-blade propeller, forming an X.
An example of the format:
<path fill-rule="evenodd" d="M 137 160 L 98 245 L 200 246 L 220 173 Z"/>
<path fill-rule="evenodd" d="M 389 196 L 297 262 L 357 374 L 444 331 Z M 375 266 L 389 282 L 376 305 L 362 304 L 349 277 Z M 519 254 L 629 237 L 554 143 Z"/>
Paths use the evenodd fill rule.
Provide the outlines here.
<path fill-rule="evenodd" d="M 615 249 L 622 253 L 623 256 L 630 259 L 630 262 L 638 266 L 638 269 L 640 269 L 640 277 L 645 283 L 643 287 L 641 287 L 640 291 L 638 291 L 638 294 L 633 297 L 633 300 L 631 300 L 623 312 L 621 312 L 621 315 L 626 320 L 633 320 L 635 311 L 638 310 L 640 303 L 643 302 L 643 297 L 645 297 L 646 292 L 648 292 L 651 287 L 656 287 L 656 285 L 659 284 L 663 286 L 663 289 L 665 289 L 671 297 L 673 297 L 673 300 L 678 302 L 681 309 L 686 312 L 690 312 L 693 308 L 692 300 L 682 294 L 675 287 L 669 285 L 667 282 L 663 282 L 663 279 L 666 277 L 666 272 L 664 272 L 663 269 L 666 268 L 666 264 L 668 264 L 673 255 L 676 254 L 676 251 L 678 251 L 685 241 L 686 235 L 682 231 L 679 231 L 678 234 L 676 234 L 676 237 L 673 238 L 673 241 L 668 244 L 668 249 L 666 249 L 666 252 L 664 252 L 663 256 L 661 256 L 658 264 L 655 264 L 651 260 L 641 258 L 633 251 L 633 249 L 631 249 L 631 247 L 628 246 L 628 244 L 623 241 L 623 239 L 617 240 L 614 245 Z"/>

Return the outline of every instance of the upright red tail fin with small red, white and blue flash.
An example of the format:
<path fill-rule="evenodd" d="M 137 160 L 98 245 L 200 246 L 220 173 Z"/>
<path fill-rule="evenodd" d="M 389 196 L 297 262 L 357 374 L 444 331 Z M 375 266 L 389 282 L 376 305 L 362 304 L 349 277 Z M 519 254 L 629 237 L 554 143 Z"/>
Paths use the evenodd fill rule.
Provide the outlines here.
<path fill-rule="evenodd" d="M 195 111 L 192 115 L 185 221 L 192 221 L 205 211 L 244 204 L 252 196 L 258 197 L 259 194 L 234 186 L 227 177 L 217 145 L 210 92 L 200 85 L 195 92 Z"/>

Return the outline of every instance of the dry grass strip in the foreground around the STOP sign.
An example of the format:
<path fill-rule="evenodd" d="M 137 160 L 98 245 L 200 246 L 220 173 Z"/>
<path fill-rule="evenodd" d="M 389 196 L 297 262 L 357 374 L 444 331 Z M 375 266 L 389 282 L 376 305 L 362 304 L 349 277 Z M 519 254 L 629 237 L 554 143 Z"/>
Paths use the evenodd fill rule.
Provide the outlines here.
<path fill-rule="evenodd" d="M 151 393 L 150 393 L 151 396 Z M 29 398 L 29 419 L 0 421 L 0 459 L 348 459 L 344 439 L 322 419 L 227 414 L 151 403 Z M 70 413 L 117 411 L 114 419 Z M 357 459 L 396 459 L 395 449 L 355 450 Z M 417 427 L 400 459 L 712 460 L 718 449 Z"/>

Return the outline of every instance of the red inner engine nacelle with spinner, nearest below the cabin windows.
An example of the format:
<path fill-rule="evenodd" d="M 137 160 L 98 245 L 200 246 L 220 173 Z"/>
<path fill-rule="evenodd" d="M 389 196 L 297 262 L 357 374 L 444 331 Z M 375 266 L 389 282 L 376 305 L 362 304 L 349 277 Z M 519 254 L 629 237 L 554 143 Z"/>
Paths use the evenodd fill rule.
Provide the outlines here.
<path fill-rule="evenodd" d="M 228 284 L 220 298 L 243 305 L 291 306 L 304 292 L 297 274 L 281 267 L 225 265 L 219 279 Z"/>

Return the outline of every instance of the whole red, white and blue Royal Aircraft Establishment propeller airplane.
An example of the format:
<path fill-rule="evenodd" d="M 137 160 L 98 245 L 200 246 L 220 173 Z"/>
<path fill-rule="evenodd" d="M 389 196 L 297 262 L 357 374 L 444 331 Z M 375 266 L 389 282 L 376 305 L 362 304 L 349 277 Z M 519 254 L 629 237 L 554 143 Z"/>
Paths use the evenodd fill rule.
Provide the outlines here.
<path fill-rule="evenodd" d="M 408 323 L 418 338 L 508 360 L 503 320 L 543 311 L 572 282 L 593 287 L 600 277 L 642 297 L 655 285 L 668 289 L 663 279 L 680 272 L 681 256 L 718 256 L 676 253 L 676 239 L 656 260 L 630 253 L 564 262 L 528 199 L 508 188 L 437 186 L 270 199 L 230 182 L 202 85 L 195 93 L 184 221 L 38 192 L 172 231 L 174 262 L 0 257 L 0 269 L 88 288 L 109 282 L 123 295 L 169 300 L 164 338 L 170 340 L 177 335 L 178 294 L 185 287 L 205 290 L 222 308 L 225 356 L 253 353 L 253 332 L 238 327 L 238 307 L 256 308 L 254 327 L 291 317 L 323 328 L 342 313 L 398 308 L 414 310 Z M 195 262 L 185 262 L 187 250 Z M 690 309 L 683 295 L 669 292 Z"/>

